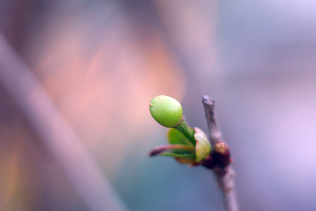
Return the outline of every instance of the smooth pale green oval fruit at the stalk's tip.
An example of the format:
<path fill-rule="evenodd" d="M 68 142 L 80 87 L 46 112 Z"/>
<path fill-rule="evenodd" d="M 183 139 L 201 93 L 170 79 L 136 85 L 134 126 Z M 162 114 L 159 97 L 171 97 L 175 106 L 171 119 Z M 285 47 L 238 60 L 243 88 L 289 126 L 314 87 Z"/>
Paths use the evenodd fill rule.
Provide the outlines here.
<path fill-rule="evenodd" d="M 182 107 L 172 97 L 159 95 L 149 104 L 152 117 L 164 127 L 174 127 L 182 118 Z"/>

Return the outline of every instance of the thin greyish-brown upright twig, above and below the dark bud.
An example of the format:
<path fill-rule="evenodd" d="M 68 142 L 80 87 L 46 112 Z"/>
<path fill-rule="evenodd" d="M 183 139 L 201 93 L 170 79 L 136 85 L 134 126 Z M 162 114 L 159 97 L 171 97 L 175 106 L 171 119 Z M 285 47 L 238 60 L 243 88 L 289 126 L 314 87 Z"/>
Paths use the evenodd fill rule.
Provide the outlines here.
<path fill-rule="evenodd" d="M 202 98 L 204 106 L 205 117 L 210 133 L 210 141 L 212 146 L 219 141 L 224 141 L 222 134 L 216 124 L 216 118 L 214 115 L 214 100 L 211 100 L 209 96 L 204 95 Z M 234 182 L 234 170 L 231 165 L 224 168 L 214 168 L 214 173 L 217 179 L 218 187 L 222 190 L 224 197 L 224 205 L 226 211 L 239 211 L 239 205 L 236 196 L 235 182 Z"/>

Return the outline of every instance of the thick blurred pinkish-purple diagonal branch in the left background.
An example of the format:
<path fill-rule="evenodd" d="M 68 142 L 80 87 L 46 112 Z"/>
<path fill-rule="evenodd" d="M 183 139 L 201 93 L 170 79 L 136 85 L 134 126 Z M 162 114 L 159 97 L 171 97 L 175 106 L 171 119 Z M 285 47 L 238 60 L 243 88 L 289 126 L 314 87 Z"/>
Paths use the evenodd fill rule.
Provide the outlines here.
<path fill-rule="evenodd" d="M 62 164 L 87 206 L 93 211 L 127 211 L 99 165 L 1 31 L 0 82 Z"/>

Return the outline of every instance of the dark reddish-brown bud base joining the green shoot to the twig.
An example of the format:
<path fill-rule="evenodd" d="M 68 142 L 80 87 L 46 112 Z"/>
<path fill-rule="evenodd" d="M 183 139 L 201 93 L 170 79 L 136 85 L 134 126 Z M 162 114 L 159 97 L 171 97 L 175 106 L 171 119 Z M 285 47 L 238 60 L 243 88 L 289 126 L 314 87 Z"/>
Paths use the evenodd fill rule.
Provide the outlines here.
<path fill-rule="evenodd" d="M 228 146 L 223 141 L 219 141 L 215 144 L 211 155 L 204 159 L 202 165 L 208 169 L 225 168 L 230 162 Z"/>

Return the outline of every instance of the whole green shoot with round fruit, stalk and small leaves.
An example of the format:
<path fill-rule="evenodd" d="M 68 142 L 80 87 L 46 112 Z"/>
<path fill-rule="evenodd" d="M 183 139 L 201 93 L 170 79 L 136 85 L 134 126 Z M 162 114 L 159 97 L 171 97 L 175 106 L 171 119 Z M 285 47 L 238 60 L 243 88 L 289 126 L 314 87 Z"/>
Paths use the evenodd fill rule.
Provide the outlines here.
<path fill-rule="evenodd" d="M 170 127 L 167 131 L 169 145 L 155 147 L 149 156 L 171 156 L 180 163 L 198 165 L 210 154 L 207 136 L 200 128 L 187 126 L 178 101 L 164 95 L 156 96 L 150 101 L 149 110 L 159 124 Z"/>

